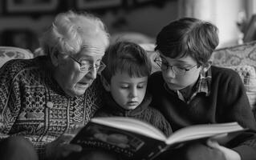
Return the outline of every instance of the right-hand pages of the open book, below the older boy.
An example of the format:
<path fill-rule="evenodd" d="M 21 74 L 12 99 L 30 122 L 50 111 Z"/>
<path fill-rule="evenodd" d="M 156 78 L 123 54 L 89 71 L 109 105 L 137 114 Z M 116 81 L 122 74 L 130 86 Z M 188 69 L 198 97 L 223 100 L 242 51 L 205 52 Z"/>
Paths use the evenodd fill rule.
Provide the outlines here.
<path fill-rule="evenodd" d="M 237 122 L 201 124 L 182 128 L 177 130 L 167 139 L 167 144 L 185 142 L 193 139 L 208 138 L 218 134 L 226 134 L 235 131 L 245 130 Z"/>

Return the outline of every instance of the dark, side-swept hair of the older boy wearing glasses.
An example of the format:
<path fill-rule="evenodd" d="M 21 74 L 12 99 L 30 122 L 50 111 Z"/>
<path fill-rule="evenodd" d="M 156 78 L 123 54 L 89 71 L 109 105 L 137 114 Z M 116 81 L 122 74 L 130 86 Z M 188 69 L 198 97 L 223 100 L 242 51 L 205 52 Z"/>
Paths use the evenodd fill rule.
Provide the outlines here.
<path fill-rule="evenodd" d="M 218 45 L 217 26 L 197 18 L 170 22 L 156 37 L 156 48 L 169 58 L 190 55 L 199 65 L 207 62 Z"/>

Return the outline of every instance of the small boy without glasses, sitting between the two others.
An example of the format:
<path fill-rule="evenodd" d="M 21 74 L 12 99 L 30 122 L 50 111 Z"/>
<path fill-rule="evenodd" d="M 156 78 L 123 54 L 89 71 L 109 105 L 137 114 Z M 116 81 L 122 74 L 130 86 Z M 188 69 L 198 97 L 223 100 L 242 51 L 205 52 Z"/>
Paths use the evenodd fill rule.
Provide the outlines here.
<path fill-rule="evenodd" d="M 146 92 L 151 62 L 145 50 L 133 42 L 116 42 L 109 46 L 102 61 L 101 73 L 106 106 L 95 116 L 123 116 L 149 122 L 166 135 L 172 133 L 169 122 L 156 109 L 148 106 L 151 97 Z"/>

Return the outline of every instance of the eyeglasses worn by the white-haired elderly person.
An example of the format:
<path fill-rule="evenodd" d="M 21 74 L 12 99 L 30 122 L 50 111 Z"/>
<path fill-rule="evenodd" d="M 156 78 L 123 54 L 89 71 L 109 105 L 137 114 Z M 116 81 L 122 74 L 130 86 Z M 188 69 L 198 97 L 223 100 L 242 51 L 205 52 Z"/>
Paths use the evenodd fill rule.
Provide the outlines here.
<path fill-rule="evenodd" d="M 100 73 L 102 72 L 102 70 L 104 70 L 104 68 L 106 67 L 106 65 L 104 64 L 104 62 L 101 62 L 100 61 L 100 65 L 91 65 L 91 64 L 88 64 L 87 62 L 79 62 L 77 59 L 71 57 L 71 56 L 68 56 L 69 58 L 73 59 L 73 61 L 79 63 L 80 65 L 80 70 L 81 72 L 83 73 L 86 73 L 86 72 L 89 72 L 91 69 L 95 68 L 97 70 L 97 73 Z"/>

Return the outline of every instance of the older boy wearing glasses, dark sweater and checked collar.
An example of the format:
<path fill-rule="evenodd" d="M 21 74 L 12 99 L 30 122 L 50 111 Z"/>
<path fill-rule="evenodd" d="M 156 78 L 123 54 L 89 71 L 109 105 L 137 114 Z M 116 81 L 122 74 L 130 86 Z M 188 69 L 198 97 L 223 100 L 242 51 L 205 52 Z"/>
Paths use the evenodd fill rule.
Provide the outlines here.
<path fill-rule="evenodd" d="M 218 45 L 217 27 L 196 18 L 170 22 L 156 37 L 154 61 L 161 67 L 148 79 L 152 106 L 172 124 L 173 131 L 201 123 L 238 122 L 255 130 L 246 90 L 239 75 L 211 66 Z M 172 159 L 255 159 L 255 132 L 238 136 L 229 146 L 191 143 L 172 153 Z"/>

